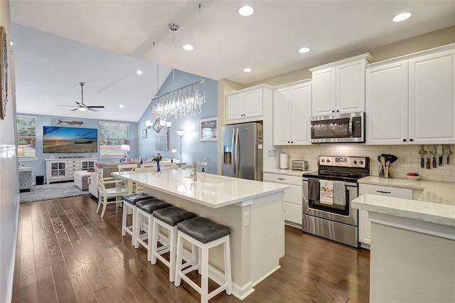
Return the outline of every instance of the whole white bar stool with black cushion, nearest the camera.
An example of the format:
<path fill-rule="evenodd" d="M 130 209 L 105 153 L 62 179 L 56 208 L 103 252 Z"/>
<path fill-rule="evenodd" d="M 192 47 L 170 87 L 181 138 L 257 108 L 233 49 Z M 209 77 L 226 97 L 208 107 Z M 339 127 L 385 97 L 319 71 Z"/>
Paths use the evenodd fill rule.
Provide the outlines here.
<path fill-rule="evenodd" d="M 227 294 L 232 294 L 232 280 L 230 269 L 230 228 L 225 225 L 209 220 L 204 217 L 196 217 L 190 220 L 185 220 L 177 224 L 177 257 L 176 257 L 176 281 L 175 285 L 180 285 L 181 279 L 188 283 L 193 289 L 200 293 L 200 302 L 206 303 L 209 299 L 215 297 L 220 292 L 226 289 Z M 201 251 L 198 262 L 190 267 L 183 269 L 183 240 L 188 241 L 192 245 L 198 246 Z M 224 265 L 225 265 L 225 281 L 212 292 L 208 292 L 208 250 L 223 244 Z M 193 248 L 194 249 L 194 248 Z M 194 255 L 194 254 L 193 254 Z M 186 276 L 188 272 L 200 270 L 200 287 Z"/>

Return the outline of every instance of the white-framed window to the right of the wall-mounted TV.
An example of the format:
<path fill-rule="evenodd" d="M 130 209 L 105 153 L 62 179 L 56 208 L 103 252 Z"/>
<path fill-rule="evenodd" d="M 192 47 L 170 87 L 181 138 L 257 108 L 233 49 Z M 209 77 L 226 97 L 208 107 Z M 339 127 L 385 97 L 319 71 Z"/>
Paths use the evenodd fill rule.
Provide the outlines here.
<path fill-rule="evenodd" d="M 100 122 L 100 156 L 123 156 L 129 144 L 129 123 Z"/>

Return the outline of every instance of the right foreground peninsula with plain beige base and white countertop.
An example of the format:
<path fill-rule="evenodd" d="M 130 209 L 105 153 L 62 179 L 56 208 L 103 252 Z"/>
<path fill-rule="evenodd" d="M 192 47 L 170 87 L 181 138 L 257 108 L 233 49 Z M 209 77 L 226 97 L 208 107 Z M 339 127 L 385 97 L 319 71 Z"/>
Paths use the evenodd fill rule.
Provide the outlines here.
<path fill-rule="evenodd" d="M 353 207 L 371 221 L 370 302 L 455 302 L 455 184 L 380 179 L 415 200 L 364 194 Z"/>

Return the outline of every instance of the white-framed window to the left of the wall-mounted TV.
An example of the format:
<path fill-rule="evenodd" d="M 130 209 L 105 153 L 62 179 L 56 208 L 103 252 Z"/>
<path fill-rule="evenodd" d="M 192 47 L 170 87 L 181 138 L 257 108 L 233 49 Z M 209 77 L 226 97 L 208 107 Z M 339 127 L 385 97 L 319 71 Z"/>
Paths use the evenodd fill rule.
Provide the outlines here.
<path fill-rule="evenodd" d="M 20 116 L 17 122 L 17 151 L 19 159 L 36 158 L 36 122 L 38 117 Z"/>

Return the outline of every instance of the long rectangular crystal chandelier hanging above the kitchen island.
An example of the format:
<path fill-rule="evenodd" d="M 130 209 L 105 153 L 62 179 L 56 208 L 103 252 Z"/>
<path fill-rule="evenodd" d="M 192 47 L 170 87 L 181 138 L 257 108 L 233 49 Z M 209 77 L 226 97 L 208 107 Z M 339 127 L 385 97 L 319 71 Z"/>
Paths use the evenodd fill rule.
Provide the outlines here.
<path fill-rule="evenodd" d="M 179 26 L 177 23 L 169 23 L 168 27 L 172 31 L 173 48 L 175 48 L 175 31 L 178 30 Z M 173 83 L 174 77 L 175 68 L 172 70 Z M 176 88 L 163 95 L 154 97 L 151 101 L 156 101 L 156 104 L 151 107 L 151 115 L 156 117 L 156 119 L 151 128 L 156 132 L 159 132 L 166 124 L 166 119 L 168 117 L 178 119 L 179 117 L 185 117 L 188 113 L 196 116 L 196 112 L 202 112 L 202 105 L 205 103 L 205 92 L 200 93 L 195 86 L 203 82 L 204 79 L 200 79 L 195 83 Z"/>

